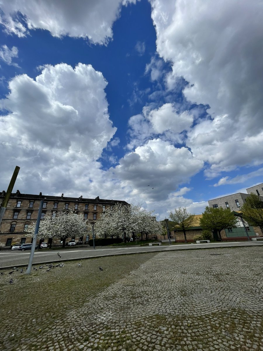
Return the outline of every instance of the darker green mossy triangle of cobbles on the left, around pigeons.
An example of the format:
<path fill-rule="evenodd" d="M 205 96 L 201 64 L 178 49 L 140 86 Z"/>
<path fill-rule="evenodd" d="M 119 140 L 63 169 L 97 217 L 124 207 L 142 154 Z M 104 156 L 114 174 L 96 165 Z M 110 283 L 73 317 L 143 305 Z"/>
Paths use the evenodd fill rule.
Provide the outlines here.
<path fill-rule="evenodd" d="M 140 254 L 136 259 L 134 255 L 127 255 L 66 262 L 64 267 L 56 267 L 49 272 L 47 267 L 37 271 L 32 269 L 30 275 L 19 271 L 8 274 L 10 270 L 2 270 L 0 335 L 5 335 L 6 348 L 1 351 L 16 350 L 21 340 L 22 343 L 32 338 L 41 340 L 41 334 L 47 333 L 48 328 L 57 323 L 56 320 L 63 320 L 76 307 L 81 307 L 89 298 L 154 255 Z M 103 271 L 99 270 L 99 266 L 103 267 Z M 9 284 L 11 278 L 13 284 Z M 39 343 L 32 344 L 29 349 L 38 350 L 38 347 Z"/>

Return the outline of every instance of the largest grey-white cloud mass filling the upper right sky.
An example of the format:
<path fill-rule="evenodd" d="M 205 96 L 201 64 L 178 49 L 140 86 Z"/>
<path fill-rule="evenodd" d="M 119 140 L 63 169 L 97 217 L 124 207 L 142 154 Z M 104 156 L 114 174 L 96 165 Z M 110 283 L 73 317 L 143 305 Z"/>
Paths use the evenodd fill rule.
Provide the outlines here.
<path fill-rule="evenodd" d="M 210 164 L 207 176 L 261 164 L 262 1 L 150 2 L 157 52 L 172 62 L 167 88 L 183 77 L 185 97 L 210 106 L 211 118 L 189 131 L 187 141 Z"/>

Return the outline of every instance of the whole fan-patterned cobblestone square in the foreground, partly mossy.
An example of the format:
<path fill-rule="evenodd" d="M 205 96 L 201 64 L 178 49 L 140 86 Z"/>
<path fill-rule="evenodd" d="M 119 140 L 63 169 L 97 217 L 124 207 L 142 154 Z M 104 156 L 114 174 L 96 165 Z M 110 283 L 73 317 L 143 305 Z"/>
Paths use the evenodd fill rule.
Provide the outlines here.
<path fill-rule="evenodd" d="M 1 350 L 263 351 L 262 263 L 240 247 L 3 271 Z"/>

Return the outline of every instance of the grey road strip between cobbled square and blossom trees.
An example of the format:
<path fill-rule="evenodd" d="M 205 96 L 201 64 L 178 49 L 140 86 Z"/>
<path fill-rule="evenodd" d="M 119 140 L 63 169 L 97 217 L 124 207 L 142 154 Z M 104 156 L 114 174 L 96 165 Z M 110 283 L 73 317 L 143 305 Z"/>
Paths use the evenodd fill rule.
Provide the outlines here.
<path fill-rule="evenodd" d="M 58 262 L 76 259 L 85 259 L 101 256 L 122 255 L 131 253 L 159 252 L 159 251 L 176 251 L 176 250 L 195 250 L 195 249 L 213 249 L 221 247 L 241 247 L 241 246 L 263 246 L 261 241 L 236 241 L 220 242 L 209 244 L 182 244 L 182 245 L 162 245 L 162 246 L 122 246 L 122 247 L 77 247 L 67 250 L 49 250 L 42 249 L 35 251 L 33 264 Z M 60 252 L 61 258 L 58 257 Z M 0 269 L 12 268 L 14 266 L 26 266 L 29 261 L 30 251 L 0 251 Z"/>

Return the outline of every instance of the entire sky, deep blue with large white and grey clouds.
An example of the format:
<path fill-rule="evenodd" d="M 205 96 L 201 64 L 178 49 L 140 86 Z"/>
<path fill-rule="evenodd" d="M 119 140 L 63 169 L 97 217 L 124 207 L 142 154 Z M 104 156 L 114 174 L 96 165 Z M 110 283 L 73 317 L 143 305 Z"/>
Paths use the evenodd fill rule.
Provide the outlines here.
<path fill-rule="evenodd" d="M 52 5 L 50 5 L 52 4 Z M 0 189 L 199 214 L 262 183 L 262 2 L 3 0 Z"/>

